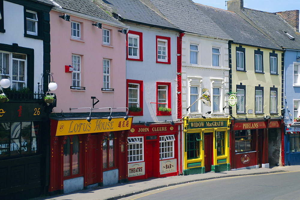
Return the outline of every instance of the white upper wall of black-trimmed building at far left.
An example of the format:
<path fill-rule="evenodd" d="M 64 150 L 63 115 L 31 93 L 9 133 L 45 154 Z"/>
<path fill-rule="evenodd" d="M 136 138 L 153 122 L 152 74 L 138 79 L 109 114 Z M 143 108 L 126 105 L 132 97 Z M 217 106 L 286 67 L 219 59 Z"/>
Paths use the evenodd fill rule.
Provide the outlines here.
<path fill-rule="evenodd" d="M 24 37 L 24 6 L 3 1 L 5 33 L 0 33 L 0 43 L 34 49 L 34 92 L 38 92 L 43 73 L 43 40 Z M 9 19 L 9 20 L 7 20 Z M 1 49 L 0 49 L 1 50 Z M 25 72 L 27 73 L 27 72 Z"/>

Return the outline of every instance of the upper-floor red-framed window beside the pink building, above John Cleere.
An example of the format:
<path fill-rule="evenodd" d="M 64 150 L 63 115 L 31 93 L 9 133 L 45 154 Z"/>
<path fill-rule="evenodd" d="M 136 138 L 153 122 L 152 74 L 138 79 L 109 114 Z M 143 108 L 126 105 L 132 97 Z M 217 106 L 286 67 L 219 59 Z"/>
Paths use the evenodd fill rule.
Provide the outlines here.
<path fill-rule="evenodd" d="M 127 60 L 143 61 L 143 33 L 128 31 L 126 46 Z"/>

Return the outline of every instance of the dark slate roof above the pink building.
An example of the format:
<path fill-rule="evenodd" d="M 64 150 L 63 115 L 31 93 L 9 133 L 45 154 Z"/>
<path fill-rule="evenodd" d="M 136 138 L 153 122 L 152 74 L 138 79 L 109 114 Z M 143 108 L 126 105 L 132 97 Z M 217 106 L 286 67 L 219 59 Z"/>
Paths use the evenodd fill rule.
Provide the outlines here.
<path fill-rule="evenodd" d="M 92 0 L 54 0 L 62 8 L 72 10 L 78 13 L 86 14 L 93 17 L 98 17 L 110 22 L 123 24 L 119 20 L 113 18 L 106 13 L 98 5 L 94 4 Z"/>

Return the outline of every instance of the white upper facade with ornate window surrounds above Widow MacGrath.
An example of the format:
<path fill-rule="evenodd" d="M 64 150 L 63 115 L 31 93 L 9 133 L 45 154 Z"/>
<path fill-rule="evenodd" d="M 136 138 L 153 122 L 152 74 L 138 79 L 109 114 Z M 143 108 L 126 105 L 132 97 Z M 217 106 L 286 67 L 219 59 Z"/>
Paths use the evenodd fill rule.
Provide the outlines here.
<path fill-rule="evenodd" d="M 198 46 L 197 64 L 190 64 L 190 45 Z M 194 46 L 195 47 L 195 46 Z M 212 64 L 212 48 L 220 49 L 219 67 Z M 192 61 L 195 63 L 195 60 Z M 206 88 L 211 94 L 211 107 L 198 100 L 196 109 L 187 108 L 191 102 L 190 87 L 198 88 L 198 98 L 202 89 Z M 220 102 L 218 111 L 213 109 L 213 88 L 219 88 Z M 229 115 L 228 92 L 229 90 L 229 56 L 228 40 L 221 40 L 186 33 L 182 38 L 182 116 L 224 116 Z M 226 108 L 223 110 L 223 108 Z M 208 114 L 207 112 L 211 112 Z"/>

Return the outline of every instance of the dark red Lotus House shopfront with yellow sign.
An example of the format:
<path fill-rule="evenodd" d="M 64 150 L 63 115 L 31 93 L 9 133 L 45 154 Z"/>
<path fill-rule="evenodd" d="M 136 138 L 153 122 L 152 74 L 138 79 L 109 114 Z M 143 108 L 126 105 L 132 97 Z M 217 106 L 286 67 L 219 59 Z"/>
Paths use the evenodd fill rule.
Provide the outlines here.
<path fill-rule="evenodd" d="M 127 182 L 132 117 L 51 118 L 49 194 Z"/>

